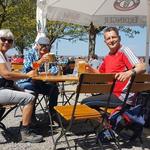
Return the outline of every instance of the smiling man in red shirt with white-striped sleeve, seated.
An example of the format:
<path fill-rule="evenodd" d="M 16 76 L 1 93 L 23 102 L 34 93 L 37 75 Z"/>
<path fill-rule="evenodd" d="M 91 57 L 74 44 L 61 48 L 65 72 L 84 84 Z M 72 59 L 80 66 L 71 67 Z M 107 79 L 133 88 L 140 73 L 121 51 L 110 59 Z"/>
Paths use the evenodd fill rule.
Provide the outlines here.
<path fill-rule="evenodd" d="M 109 48 L 108 55 L 99 66 L 98 70 L 90 65 L 86 67 L 87 71 L 93 73 L 116 73 L 118 79 L 110 100 L 111 107 L 116 107 L 123 103 L 128 86 L 128 79 L 133 73 L 142 73 L 145 71 L 145 64 L 141 63 L 133 52 L 121 45 L 119 32 L 115 27 L 109 27 L 104 31 L 105 43 Z M 83 99 L 82 103 L 90 107 L 106 106 L 108 94 L 100 94 Z M 134 104 L 134 93 L 130 93 L 127 103 Z"/>

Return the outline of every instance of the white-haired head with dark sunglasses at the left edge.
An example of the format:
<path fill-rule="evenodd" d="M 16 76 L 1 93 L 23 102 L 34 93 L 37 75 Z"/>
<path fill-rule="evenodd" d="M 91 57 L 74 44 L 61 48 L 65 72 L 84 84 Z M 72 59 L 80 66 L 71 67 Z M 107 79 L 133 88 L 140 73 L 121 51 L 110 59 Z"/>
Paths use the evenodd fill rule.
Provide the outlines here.
<path fill-rule="evenodd" d="M 9 29 L 0 30 L 0 51 L 5 53 L 13 45 L 14 35 Z"/>

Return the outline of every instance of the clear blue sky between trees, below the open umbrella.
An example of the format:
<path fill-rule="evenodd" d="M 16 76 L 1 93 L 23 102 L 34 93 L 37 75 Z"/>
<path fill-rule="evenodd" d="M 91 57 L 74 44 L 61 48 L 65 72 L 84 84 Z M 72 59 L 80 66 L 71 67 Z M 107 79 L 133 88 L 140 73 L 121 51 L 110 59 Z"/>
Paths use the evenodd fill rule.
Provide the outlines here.
<path fill-rule="evenodd" d="M 146 51 L 146 28 L 134 27 L 134 29 L 140 31 L 140 34 L 134 38 L 125 36 L 123 32 L 120 32 L 121 43 L 128 46 L 137 56 L 145 56 Z M 87 56 L 88 55 L 88 42 L 78 41 L 72 43 L 66 40 L 59 40 L 53 46 L 52 51 L 58 55 L 74 55 L 74 56 Z M 108 48 L 103 41 L 103 35 L 98 36 L 96 39 L 95 52 L 98 56 L 105 56 L 108 53 Z"/>

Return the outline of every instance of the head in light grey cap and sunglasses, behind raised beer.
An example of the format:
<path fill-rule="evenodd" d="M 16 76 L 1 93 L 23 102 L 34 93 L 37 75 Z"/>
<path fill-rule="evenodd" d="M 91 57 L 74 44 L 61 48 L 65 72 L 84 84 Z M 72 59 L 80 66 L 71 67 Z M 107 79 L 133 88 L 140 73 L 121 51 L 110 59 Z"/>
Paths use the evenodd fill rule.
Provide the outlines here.
<path fill-rule="evenodd" d="M 48 37 L 40 37 L 37 40 L 36 44 L 37 44 L 36 48 L 38 49 L 41 56 L 49 52 L 50 40 Z"/>

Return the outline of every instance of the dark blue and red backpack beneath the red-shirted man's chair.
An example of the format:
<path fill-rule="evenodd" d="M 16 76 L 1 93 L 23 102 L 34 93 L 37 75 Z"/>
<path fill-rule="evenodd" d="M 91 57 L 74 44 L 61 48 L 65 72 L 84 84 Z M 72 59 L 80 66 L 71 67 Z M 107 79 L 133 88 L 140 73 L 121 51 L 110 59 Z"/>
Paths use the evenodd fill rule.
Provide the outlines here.
<path fill-rule="evenodd" d="M 144 108 L 142 105 L 134 107 L 118 106 L 109 116 L 109 122 L 112 129 L 116 133 L 120 133 L 123 129 L 130 129 L 133 131 L 130 140 L 135 140 L 140 137 L 144 127 Z"/>

